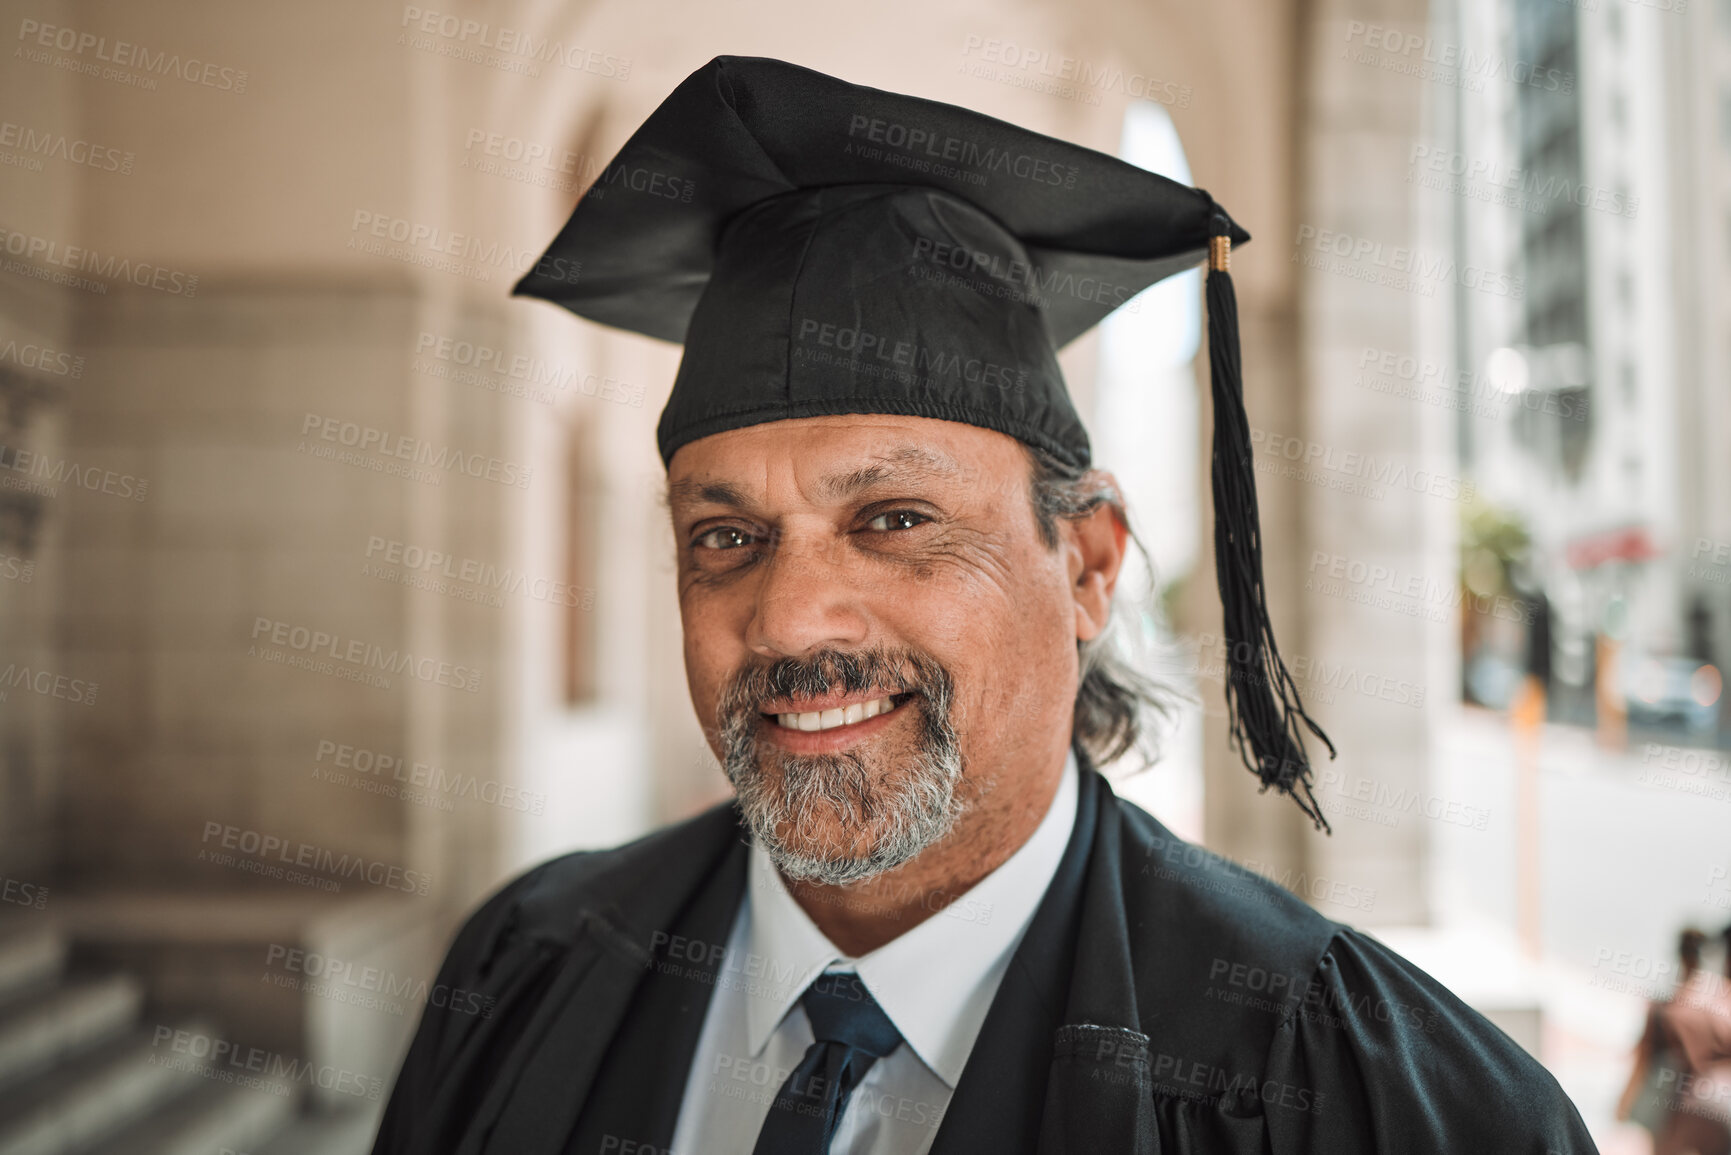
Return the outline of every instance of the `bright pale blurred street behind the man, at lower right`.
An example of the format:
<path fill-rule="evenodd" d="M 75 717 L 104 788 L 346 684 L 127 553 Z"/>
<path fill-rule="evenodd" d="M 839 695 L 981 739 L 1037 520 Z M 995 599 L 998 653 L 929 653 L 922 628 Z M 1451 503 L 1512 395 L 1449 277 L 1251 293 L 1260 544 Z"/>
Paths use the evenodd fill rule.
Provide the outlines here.
<path fill-rule="evenodd" d="M 1693 757 L 1689 757 L 1693 755 Z M 1695 772 L 1674 767 L 1696 767 Z M 1615 1126 L 1646 999 L 1669 994 L 1684 925 L 1731 921 L 1731 802 L 1724 752 L 1634 741 L 1605 750 L 1593 731 L 1546 726 L 1539 745 L 1539 909 L 1544 956 L 1516 933 L 1516 743 L 1509 724 L 1463 710 L 1437 727 L 1433 791 L 1490 812 L 1485 829 L 1437 823 L 1433 892 L 1454 951 L 1456 990 L 1494 989 L 1542 1008 L 1544 1051 L 1603 1150 L 1644 1152 Z M 1693 783 L 1689 793 L 1684 788 Z M 1397 935 L 1388 935 L 1390 940 Z M 1412 951 L 1419 954 L 1419 951 Z M 1416 959 L 1418 961 L 1418 959 Z M 1712 959 L 1708 961 L 1712 965 Z M 1444 970 L 1437 966 L 1437 970 Z"/>

